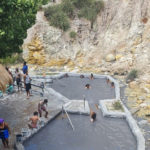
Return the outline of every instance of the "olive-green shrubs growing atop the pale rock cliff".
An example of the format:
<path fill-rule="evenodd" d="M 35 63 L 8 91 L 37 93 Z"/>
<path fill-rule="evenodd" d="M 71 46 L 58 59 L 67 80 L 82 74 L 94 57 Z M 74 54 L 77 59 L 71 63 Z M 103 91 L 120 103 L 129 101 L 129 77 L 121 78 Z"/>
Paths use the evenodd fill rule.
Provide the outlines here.
<path fill-rule="evenodd" d="M 89 20 L 91 22 L 91 28 L 93 28 L 97 15 L 103 7 L 103 1 L 63 0 L 61 4 L 47 8 L 45 10 L 45 16 L 52 26 L 66 31 L 70 27 L 69 18 L 74 18 L 77 13 L 79 17 L 84 17 Z"/>

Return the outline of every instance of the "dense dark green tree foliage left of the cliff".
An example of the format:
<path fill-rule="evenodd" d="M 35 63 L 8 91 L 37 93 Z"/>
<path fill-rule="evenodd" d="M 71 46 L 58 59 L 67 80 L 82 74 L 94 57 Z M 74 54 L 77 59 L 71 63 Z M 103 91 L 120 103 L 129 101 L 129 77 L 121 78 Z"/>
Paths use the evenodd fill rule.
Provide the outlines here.
<path fill-rule="evenodd" d="M 8 60 L 20 53 L 27 29 L 35 23 L 35 15 L 48 0 L 0 1 L 0 58 Z"/>

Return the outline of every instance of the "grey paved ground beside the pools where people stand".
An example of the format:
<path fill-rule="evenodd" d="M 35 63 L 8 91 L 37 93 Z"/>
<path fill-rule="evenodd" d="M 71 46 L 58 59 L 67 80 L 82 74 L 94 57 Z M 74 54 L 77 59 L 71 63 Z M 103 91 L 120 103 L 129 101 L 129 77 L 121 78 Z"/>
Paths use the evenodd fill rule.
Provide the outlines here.
<path fill-rule="evenodd" d="M 30 99 L 27 99 L 25 91 L 16 92 L 11 95 L 5 95 L 3 99 L 0 99 L 0 118 L 9 124 L 12 134 L 10 136 L 10 148 L 13 150 L 15 142 L 15 134 L 20 133 L 22 128 L 28 128 L 28 119 L 37 111 L 37 105 L 40 100 L 48 98 L 48 110 L 49 117 L 55 115 L 61 108 L 62 104 L 59 102 L 59 98 L 49 95 L 45 92 L 44 97 L 40 94 L 33 93 Z M 52 116 L 51 116 L 52 115 Z M 4 149 L 2 142 L 0 142 L 0 150 Z"/>

